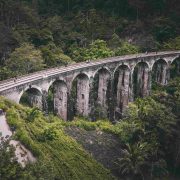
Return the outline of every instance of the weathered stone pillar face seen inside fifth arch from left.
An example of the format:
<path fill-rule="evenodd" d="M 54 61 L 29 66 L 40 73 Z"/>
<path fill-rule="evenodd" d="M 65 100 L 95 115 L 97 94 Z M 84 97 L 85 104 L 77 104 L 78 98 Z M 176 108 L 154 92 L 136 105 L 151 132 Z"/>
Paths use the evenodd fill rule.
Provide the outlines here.
<path fill-rule="evenodd" d="M 129 103 L 129 78 L 130 72 L 127 69 L 121 69 L 117 85 L 117 108 L 121 113 Z"/>

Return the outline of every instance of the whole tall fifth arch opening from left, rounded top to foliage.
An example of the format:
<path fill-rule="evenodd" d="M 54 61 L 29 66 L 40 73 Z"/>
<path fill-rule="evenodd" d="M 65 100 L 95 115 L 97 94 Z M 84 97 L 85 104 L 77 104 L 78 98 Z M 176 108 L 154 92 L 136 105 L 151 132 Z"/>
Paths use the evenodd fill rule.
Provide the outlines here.
<path fill-rule="evenodd" d="M 131 71 L 127 65 L 120 65 L 114 72 L 115 118 L 122 117 L 129 103 Z"/>

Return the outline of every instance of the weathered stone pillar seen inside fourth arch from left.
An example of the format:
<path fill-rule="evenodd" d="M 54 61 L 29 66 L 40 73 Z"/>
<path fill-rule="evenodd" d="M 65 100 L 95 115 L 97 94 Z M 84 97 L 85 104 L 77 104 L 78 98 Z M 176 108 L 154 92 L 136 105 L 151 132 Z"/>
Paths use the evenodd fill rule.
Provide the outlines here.
<path fill-rule="evenodd" d="M 103 110 L 107 112 L 107 90 L 110 75 L 106 71 L 101 71 L 99 73 L 99 84 L 98 84 L 98 104 Z"/>

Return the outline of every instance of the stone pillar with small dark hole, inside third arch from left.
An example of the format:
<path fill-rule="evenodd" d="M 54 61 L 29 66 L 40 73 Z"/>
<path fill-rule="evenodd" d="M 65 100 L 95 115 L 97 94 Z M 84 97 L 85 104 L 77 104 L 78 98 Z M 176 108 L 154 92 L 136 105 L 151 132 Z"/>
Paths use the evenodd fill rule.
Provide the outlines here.
<path fill-rule="evenodd" d="M 77 113 L 79 115 L 89 115 L 89 79 L 87 77 L 79 77 L 77 79 Z"/>

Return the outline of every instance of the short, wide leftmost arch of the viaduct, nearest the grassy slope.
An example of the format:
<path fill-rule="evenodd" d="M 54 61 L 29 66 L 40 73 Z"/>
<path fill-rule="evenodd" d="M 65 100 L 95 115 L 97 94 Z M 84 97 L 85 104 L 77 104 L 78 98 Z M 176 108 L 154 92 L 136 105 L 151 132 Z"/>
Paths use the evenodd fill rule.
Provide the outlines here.
<path fill-rule="evenodd" d="M 18 102 L 42 110 L 42 90 L 37 86 L 29 85 L 20 93 Z"/>

